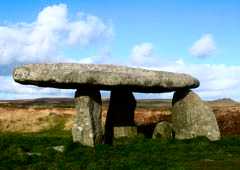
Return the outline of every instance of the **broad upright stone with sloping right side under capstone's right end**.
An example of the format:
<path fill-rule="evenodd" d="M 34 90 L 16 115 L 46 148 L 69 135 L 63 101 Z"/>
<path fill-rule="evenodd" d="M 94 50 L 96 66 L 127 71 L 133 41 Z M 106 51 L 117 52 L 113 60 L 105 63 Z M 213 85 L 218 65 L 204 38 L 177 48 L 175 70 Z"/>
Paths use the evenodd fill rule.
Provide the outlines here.
<path fill-rule="evenodd" d="M 177 139 L 206 136 L 219 140 L 220 132 L 213 111 L 191 90 L 174 93 L 172 124 Z"/>

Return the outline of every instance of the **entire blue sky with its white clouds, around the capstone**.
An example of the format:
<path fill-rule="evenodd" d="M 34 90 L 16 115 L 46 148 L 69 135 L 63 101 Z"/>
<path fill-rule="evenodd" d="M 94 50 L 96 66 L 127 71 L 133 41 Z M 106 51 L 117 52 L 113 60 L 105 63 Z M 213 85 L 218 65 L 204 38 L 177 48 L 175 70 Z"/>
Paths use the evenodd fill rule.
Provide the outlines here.
<path fill-rule="evenodd" d="M 0 99 L 71 96 L 10 75 L 20 64 L 64 61 L 185 72 L 200 79 L 201 97 L 240 100 L 239 18 L 237 0 L 2 0 Z"/>

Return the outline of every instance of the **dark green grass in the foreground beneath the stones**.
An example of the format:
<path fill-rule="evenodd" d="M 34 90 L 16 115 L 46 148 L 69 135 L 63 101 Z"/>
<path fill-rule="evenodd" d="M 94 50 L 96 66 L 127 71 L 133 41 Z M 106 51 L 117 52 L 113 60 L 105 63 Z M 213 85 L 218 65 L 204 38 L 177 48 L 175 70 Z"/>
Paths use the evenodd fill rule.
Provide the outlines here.
<path fill-rule="evenodd" d="M 63 145 L 64 152 L 53 146 Z M 72 143 L 70 132 L 0 134 L 0 169 L 239 169 L 240 136 L 217 142 L 122 138 L 96 148 Z M 29 153 L 32 153 L 30 155 Z"/>

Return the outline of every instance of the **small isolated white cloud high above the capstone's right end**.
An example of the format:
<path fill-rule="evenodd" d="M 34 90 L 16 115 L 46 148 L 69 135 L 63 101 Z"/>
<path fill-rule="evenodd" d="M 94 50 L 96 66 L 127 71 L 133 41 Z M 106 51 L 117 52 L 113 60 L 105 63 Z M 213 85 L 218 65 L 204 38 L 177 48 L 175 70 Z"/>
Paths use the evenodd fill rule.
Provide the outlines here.
<path fill-rule="evenodd" d="M 199 58 L 211 56 L 216 51 L 213 36 L 211 34 L 203 35 L 193 44 L 189 51 L 192 56 Z"/>

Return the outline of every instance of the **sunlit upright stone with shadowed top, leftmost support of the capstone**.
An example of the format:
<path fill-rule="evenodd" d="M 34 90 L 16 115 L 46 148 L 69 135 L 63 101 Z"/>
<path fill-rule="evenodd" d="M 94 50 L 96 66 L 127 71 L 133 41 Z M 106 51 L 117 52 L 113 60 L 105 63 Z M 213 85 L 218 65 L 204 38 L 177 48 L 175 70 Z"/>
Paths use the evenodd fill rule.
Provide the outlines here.
<path fill-rule="evenodd" d="M 99 90 L 81 90 L 75 93 L 76 119 L 72 128 L 74 142 L 95 146 L 103 142 L 101 124 L 101 94 Z"/>

